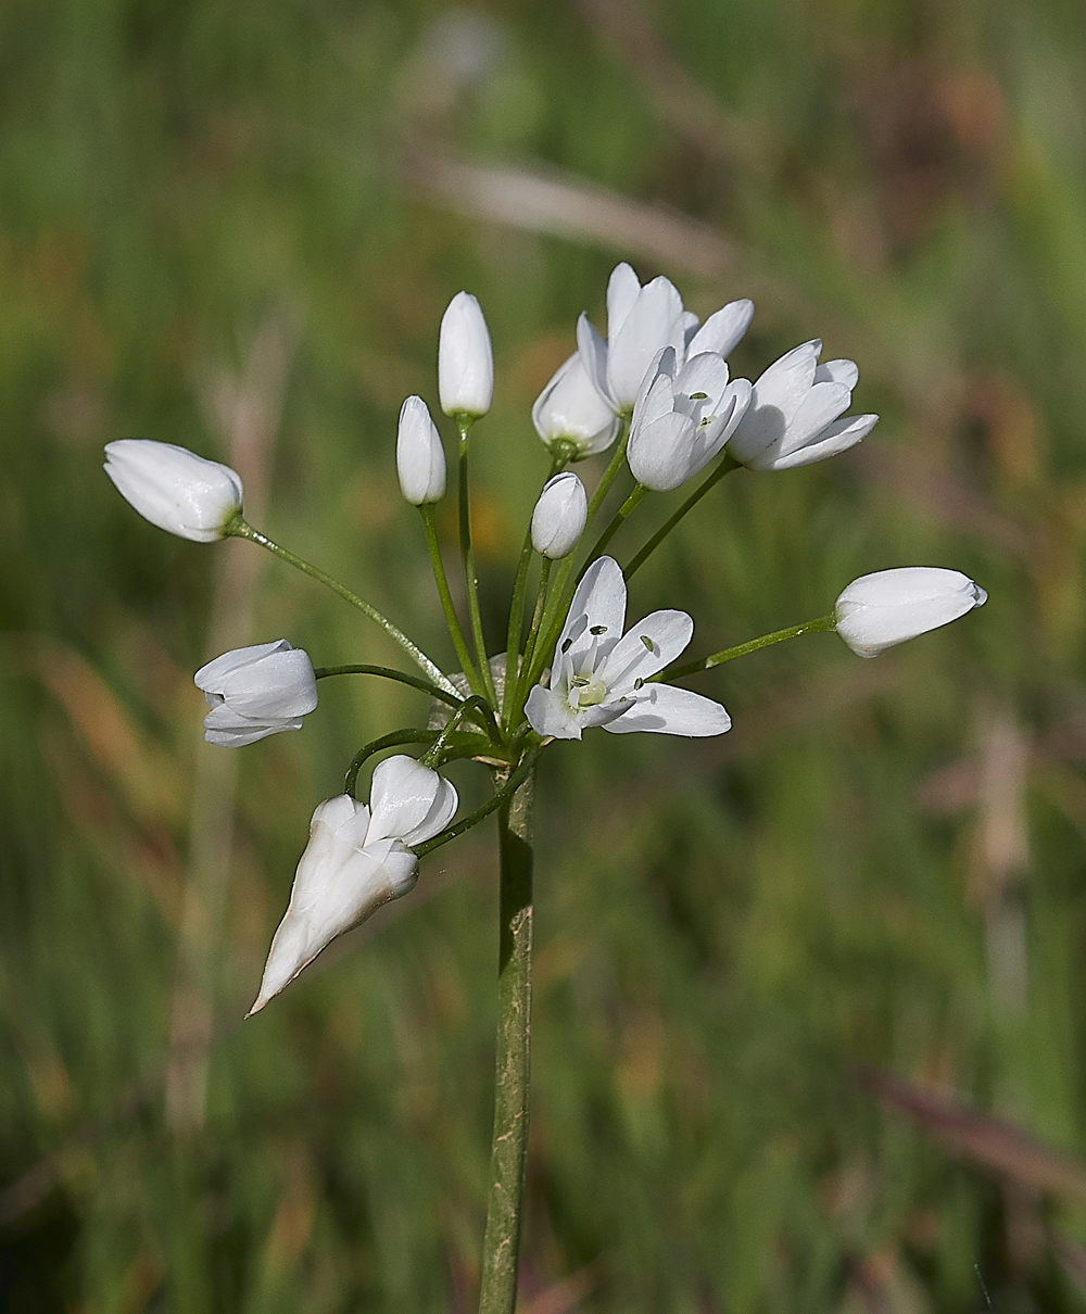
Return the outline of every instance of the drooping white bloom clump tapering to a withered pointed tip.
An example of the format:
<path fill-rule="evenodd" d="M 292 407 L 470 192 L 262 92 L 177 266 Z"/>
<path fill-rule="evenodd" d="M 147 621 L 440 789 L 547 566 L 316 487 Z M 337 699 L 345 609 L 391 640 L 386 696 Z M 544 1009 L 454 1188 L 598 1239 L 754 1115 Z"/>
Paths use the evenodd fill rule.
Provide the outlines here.
<path fill-rule="evenodd" d="M 337 936 L 414 888 L 418 859 L 410 846 L 443 830 L 456 803 L 448 781 L 397 754 L 373 771 L 369 807 L 348 794 L 317 807 L 250 1016 Z"/>

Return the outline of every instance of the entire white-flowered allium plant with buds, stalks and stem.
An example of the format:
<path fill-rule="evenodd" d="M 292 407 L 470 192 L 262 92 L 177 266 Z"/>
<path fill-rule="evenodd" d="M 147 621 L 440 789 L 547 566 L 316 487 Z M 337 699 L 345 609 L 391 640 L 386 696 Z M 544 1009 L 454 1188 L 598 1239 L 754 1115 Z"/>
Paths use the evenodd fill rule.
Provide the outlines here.
<path fill-rule="evenodd" d="M 881 570 L 849 583 L 826 616 L 682 665 L 674 664 L 694 631 L 686 612 L 653 611 L 627 624 L 628 579 L 714 484 L 740 466 L 772 472 L 820 461 L 859 443 L 876 423 L 874 415 L 844 415 L 856 365 L 819 364 L 818 340 L 788 352 L 755 384 L 730 378 L 727 356 L 752 315 L 749 301 L 732 301 L 702 325 L 682 309 L 667 279 L 642 286 L 628 264 L 618 265 L 607 285 L 607 338 L 581 315 L 577 350 L 532 407 L 551 472 L 525 536 L 506 650 L 492 656 L 483 637 L 472 555 L 468 452 L 476 422 L 490 409 L 493 357 L 479 302 L 464 292 L 452 298 L 440 326 L 438 393 L 458 432 L 467 629 L 452 602 L 434 523 L 434 505 L 446 493 L 444 448 L 419 397 L 409 397 L 400 413 L 396 464 L 404 497 L 422 516 L 460 668 L 455 674 L 446 674 L 368 602 L 247 524 L 234 470 L 166 443 L 125 439 L 106 447 L 106 473 L 153 524 L 197 543 L 233 536 L 267 548 L 376 622 L 418 668 L 418 674 L 362 664 L 314 670 L 308 654 L 285 639 L 225 653 L 196 673 L 210 706 L 204 720 L 209 742 L 242 746 L 301 729 L 317 707 L 317 682 L 330 675 L 393 679 L 433 700 L 423 727 L 393 731 L 362 748 L 347 767 L 343 792 L 314 811 L 252 1013 L 337 936 L 409 894 L 419 858 L 498 813 L 498 1031 L 484 1314 L 509 1314 L 517 1294 L 529 1131 L 531 802 L 540 752 L 556 738 L 580 740 L 594 727 L 611 735 L 723 735 L 731 725 L 724 708 L 682 681 L 815 631 L 836 629 L 855 653 L 874 657 L 985 600 L 983 590 L 956 570 Z M 589 497 L 569 466 L 609 448 L 614 455 Z M 632 490 L 597 528 L 623 466 Z M 625 564 L 606 555 L 611 536 L 643 498 L 699 474 L 685 502 Z M 589 531 L 597 536 L 581 552 Z M 536 553 L 539 585 L 529 606 Z M 360 802 L 364 763 L 409 744 L 425 746 L 421 757 L 387 757 L 372 773 L 368 803 Z M 459 821 L 456 791 L 440 774 L 455 758 L 483 763 L 494 786 L 489 800 Z"/>

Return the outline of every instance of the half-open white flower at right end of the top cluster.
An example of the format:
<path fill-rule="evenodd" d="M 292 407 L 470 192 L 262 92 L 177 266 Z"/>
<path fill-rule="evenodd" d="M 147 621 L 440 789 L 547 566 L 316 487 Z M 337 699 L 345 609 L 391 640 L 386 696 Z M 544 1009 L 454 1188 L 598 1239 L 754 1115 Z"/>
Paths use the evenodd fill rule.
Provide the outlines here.
<path fill-rule="evenodd" d="M 877 415 L 848 410 L 860 371 L 851 360 L 818 364 L 822 342 L 794 347 L 757 380 L 728 451 L 752 470 L 788 470 L 844 452 L 865 438 Z"/>

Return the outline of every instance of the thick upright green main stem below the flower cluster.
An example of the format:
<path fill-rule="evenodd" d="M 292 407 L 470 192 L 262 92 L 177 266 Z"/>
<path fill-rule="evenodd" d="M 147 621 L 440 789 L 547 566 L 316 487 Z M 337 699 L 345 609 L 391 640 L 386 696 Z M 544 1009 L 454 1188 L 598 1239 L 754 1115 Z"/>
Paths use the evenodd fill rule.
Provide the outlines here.
<path fill-rule="evenodd" d="M 508 779 L 496 773 L 496 784 Z M 483 1240 L 479 1314 L 513 1314 L 521 1252 L 531 1075 L 531 936 L 534 774 L 498 809 L 501 855 L 498 1030 L 490 1194 Z"/>

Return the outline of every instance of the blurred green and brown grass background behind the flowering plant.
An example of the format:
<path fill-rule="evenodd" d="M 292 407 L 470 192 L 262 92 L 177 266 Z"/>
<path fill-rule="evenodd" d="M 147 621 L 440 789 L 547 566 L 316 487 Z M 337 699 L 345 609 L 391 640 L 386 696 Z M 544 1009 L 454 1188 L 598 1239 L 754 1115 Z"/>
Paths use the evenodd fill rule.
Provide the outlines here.
<path fill-rule="evenodd" d="M 312 808 L 425 708 L 344 681 L 301 735 L 205 746 L 191 673 L 226 646 L 396 653 L 245 544 L 154 531 L 101 448 L 231 461 L 251 519 L 448 662 L 393 443 L 468 288 L 498 650 L 529 409 L 617 259 L 702 314 L 752 296 L 735 373 L 820 335 L 882 415 L 724 481 L 635 612 L 707 652 L 912 562 L 990 602 L 878 662 L 823 635 L 703 677 L 720 741 L 544 756 L 522 1309 L 1086 1307 L 1085 55 L 1065 0 L 8 0 L 8 1309 L 472 1309 L 493 836 L 242 1025 Z M 951 1134 L 869 1068 L 1004 1121 Z"/>

